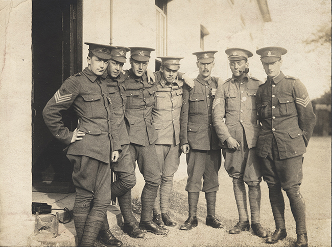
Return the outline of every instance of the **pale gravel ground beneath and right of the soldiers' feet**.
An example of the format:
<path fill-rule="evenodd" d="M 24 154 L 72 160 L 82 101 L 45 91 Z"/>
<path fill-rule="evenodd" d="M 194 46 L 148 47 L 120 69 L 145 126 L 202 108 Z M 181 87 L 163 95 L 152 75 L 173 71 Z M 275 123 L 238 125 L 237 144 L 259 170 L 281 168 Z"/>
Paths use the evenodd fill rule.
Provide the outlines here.
<path fill-rule="evenodd" d="M 113 234 L 124 242 L 123 246 L 293 246 L 296 241 L 295 222 L 289 201 L 284 193 L 286 204 L 286 227 L 288 236 L 275 244 L 267 244 L 264 239 L 253 235 L 252 230 L 239 235 L 231 235 L 228 230 L 238 221 L 232 181 L 222 167 L 219 172 L 219 191 L 217 193 L 216 215 L 224 224 L 223 229 L 205 225 L 206 202 L 204 193 L 200 194 L 198 205 L 198 227 L 191 231 L 180 231 L 180 225 L 187 218 L 187 193 L 185 158 L 181 156 L 180 168 L 176 174 L 171 196 L 170 216 L 178 222 L 176 227 L 168 227 L 166 236 L 146 233 L 143 239 L 134 239 L 124 234 L 120 226 L 112 229 Z M 331 138 L 313 137 L 303 163 L 304 179 L 301 193 L 306 202 L 306 226 L 309 246 L 331 246 Z M 268 198 L 268 188 L 262 182 L 261 223 L 270 233 L 275 230 L 272 210 Z M 249 205 L 249 202 L 248 202 Z M 139 222 L 140 200 L 133 199 L 133 211 Z"/>

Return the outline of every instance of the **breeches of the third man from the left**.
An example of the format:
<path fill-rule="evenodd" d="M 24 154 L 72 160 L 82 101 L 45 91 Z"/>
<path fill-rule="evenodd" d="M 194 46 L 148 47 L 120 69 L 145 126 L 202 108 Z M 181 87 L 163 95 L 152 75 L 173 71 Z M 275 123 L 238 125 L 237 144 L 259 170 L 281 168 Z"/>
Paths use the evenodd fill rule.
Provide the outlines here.
<path fill-rule="evenodd" d="M 137 160 L 139 171 L 143 175 L 145 182 L 151 186 L 159 186 L 161 174 L 155 144 L 140 146 L 131 143 L 129 152 L 134 166 Z"/>

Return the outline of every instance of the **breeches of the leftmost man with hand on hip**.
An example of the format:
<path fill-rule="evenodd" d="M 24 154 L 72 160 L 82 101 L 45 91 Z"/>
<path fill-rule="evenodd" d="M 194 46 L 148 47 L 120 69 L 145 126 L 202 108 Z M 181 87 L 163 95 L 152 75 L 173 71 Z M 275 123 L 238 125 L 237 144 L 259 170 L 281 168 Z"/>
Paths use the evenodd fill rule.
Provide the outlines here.
<path fill-rule="evenodd" d="M 74 165 L 73 182 L 76 187 L 74 208 L 83 210 L 91 206 L 89 215 L 105 218 L 111 203 L 109 164 L 87 156 L 67 154 L 67 157 Z M 88 210 L 83 211 L 88 212 Z"/>

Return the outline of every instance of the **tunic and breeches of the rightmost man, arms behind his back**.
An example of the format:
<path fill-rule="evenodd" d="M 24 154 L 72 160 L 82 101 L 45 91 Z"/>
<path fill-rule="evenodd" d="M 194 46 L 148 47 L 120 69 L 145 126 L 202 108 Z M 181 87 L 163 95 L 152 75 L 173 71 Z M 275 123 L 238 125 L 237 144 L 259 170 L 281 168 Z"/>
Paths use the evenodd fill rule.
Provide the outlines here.
<path fill-rule="evenodd" d="M 256 104 L 258 118 L 263 125 L 256 151 L 263 158 L 264 180 L 281 182 L 284 189 L 301 184 L 301 157 L 316 124 L 306 88 L 299 79 L 280 72 L 259 86 Z"/>

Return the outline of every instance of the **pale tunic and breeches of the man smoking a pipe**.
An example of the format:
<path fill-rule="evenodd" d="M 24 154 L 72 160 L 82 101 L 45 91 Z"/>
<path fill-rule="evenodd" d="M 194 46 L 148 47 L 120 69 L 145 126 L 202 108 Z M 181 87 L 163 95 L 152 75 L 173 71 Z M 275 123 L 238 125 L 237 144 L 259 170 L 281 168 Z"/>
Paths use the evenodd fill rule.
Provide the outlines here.
<path fill-rule="evenodd" d="M 260 84 L 261 81 L 248 74 L 242 81 L 232 76 L 218 87 L 212 107 L 225 169 L 230 177 L 243 177 L 246 183 L 262 180 L 254 148 L 260 130 L 256 111 L 256 92 Z M 230 136 L 240 142 L 240 150 L 228 149 L 226 139 Z"/>

